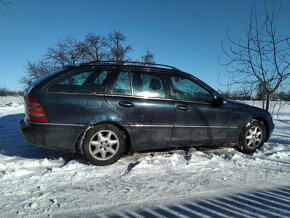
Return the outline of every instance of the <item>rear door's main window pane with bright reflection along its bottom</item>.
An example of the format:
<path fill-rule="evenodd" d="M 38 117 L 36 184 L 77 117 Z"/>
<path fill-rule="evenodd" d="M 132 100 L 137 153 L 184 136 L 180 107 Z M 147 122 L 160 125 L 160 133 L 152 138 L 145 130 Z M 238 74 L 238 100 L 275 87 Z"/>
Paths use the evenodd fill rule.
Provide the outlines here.
<path fill-rule="evenodd" d="M 158 74 L 132 73 L 135 96 L 147 98 L 165 98 L 164 83 Z"/>

